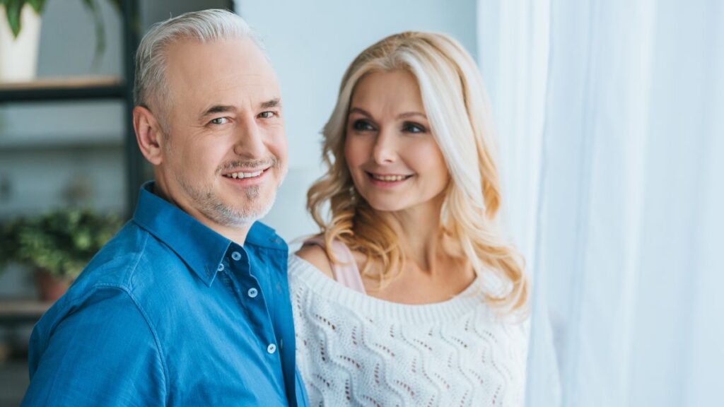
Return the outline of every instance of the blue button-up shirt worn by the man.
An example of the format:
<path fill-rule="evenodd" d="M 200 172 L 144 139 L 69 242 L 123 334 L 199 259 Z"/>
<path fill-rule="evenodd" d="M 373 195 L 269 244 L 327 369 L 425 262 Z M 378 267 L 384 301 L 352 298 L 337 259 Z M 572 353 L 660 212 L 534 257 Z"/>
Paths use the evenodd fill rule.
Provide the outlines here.
<path fill-rule="evenodd" d="M 287 246 L 244 246 L 141 189 L 133 219 L 35 325 L 23 406 L 306 406 Z"/>

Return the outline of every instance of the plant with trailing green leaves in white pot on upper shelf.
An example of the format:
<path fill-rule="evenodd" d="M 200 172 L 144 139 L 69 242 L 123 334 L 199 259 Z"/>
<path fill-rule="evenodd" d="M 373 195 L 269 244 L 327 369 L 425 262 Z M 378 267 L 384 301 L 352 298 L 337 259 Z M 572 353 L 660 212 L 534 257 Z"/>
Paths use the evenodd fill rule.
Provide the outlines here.
<path fill-rule="evenodd" d="M 106 48 L 106 30 L 96 0 L 81 0 L 96 26 L 96 61 Z M 120 11 L 122 0 L 109 0 Z M 0 80 L 35 77 L 41 16 L 46 0 L 0 0 Z M 21 35 L 22 32 L 22 35 Z"/>

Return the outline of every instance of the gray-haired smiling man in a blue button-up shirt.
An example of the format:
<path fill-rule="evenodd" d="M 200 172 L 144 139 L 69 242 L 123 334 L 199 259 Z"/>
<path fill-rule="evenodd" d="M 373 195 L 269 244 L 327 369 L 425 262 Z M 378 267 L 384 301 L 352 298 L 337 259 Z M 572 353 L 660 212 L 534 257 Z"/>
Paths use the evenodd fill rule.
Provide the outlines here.
<path fill-rule="evenodd" d="M 155 183 L 35 326 L 23 406 L 306 406 L 287 246 L 254 223 L 287 169 L 277 77 L 221 10 L 156 25 L 136 58 Z"/>

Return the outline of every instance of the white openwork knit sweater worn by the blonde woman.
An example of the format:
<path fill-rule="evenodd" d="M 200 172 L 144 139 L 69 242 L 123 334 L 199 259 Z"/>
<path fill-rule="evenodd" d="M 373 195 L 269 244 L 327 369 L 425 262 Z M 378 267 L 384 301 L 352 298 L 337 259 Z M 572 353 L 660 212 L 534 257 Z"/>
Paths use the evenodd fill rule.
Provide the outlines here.
<path fill-rule="evenodd" d="M 442 303 L 350 290 L 298 256 L 289 284 L 310 406 L 522 406 L 529 322 L 504 321 L 479 280 Z"/>

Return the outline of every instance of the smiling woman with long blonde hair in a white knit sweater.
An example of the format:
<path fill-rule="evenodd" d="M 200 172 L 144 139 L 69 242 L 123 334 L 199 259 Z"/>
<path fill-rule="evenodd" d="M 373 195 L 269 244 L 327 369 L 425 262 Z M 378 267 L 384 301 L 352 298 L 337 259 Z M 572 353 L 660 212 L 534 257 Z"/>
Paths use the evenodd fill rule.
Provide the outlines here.
<path fill-rule="evenodd" d="M 321 234 L 290 259 L 312 406 L 523 403 L 528 285 L 495 226 L 493 141 L 449 36 L 392 35 L 350 65 L 308 193 Z"/>

